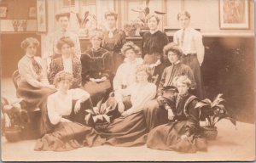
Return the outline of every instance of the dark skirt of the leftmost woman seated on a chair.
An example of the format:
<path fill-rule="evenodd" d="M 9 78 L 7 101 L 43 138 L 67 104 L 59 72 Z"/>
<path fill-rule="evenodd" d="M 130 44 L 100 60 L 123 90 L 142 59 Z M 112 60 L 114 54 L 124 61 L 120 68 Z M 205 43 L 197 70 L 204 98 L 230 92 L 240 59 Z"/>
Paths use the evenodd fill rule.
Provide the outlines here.
<path fill-rule="evenodd" d="M 49 87 L 33 87 L 28 82 L 20 82 L 17 89 L 17 97 L 23 98 L 27 111 L 33 111 L 36 108 L 41 109 L 41 105 L 46 101 L 47 97 L 55 93 L 55 89 Z"/>

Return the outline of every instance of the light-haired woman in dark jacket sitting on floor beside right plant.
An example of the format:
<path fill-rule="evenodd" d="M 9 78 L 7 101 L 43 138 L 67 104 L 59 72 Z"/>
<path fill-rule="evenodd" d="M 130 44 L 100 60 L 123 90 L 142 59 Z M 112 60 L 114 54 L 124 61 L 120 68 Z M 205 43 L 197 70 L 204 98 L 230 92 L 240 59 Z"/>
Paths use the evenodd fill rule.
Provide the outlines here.
<path fill-rule="evenodd" d="M 175 81 L 178 94 L 173 115 L 168 115 L 171 122 L 156 126 L 148 133 L 147 146 L 151 149 L 176 150 L 194 153 L 207 150 L 207 141 L 199 137 L 199 113 L 195 109 L 198 98 L 189 94 L 191 81 L 188 76 L 179 76 Z M 167 116 L 167 115 L 166 115 Z"/>

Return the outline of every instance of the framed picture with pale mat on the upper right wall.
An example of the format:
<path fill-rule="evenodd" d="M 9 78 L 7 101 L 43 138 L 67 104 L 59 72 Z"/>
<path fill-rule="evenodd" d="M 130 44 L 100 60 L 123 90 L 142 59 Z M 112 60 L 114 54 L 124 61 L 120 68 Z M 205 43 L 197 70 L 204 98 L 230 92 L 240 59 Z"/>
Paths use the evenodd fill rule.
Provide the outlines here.
<path fill-rule="evenodd" d="M 220 29 L 248 29 L 248 0 L 218 0 Z"/>

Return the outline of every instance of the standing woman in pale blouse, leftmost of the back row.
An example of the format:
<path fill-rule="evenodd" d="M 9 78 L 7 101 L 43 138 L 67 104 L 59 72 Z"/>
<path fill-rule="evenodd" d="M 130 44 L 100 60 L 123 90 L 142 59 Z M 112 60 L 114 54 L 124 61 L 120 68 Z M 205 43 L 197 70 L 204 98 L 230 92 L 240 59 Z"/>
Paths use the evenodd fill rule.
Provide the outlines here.
<path fill-rule="evenodd" d="M 70 37 L 73 41 L 73 52 L 74 56 L 80 59 L 81 49 L 80 49 L 80 41 L 79 36 L 72 31 L 67 31 L 67 27 L 69 25 L 70 13 L 58 13 L 55 14 L 55 20 L 57 21 L 60 29 L 50 33 L 47 37 L 47 42 L 45 46 L 45 53 L 43 59 L 48 59 L 48 63 L 51 59 L 54 59 L 57 56 L 60 56 L 60 51 L 56 47 L 57 42 L 61 39 L 61 37 Z M 58 55 L 59 54 L 59 55 Z M 49 58 L 50 57 L 50 58 Z"/>

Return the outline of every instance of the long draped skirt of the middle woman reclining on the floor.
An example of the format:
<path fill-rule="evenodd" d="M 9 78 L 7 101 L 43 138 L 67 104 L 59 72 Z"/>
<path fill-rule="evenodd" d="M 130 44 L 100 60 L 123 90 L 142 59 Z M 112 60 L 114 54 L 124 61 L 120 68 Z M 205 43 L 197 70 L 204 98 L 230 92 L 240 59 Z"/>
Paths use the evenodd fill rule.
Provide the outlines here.
<path fill-rule="evenodd" d="M 100 135 L 107 144 L 129 147 L 146 143 L 147 132 L 143 111 L 139 111 L 115 119 Z"/>

